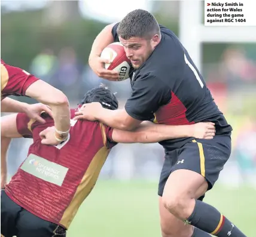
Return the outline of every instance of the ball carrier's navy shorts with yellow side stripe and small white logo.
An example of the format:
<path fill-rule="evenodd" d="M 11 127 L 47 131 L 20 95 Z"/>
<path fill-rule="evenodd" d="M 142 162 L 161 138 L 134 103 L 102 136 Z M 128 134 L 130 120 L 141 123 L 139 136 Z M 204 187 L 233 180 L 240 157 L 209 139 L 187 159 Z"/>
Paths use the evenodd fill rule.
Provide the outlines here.
<path fill-rule="evenodd" d="M 196 139 L 179 149 L 166 153 L 159 180 L 159 196 L 163 195 L 167 178 L 175 170 L 191 170 L 201 174 L 208 181 L 208 190 L 218 180 L 231 153 L 231 137 L 217 135 L 211 140 Z M 200 200 L 203 199 L 203 196 Z"/>

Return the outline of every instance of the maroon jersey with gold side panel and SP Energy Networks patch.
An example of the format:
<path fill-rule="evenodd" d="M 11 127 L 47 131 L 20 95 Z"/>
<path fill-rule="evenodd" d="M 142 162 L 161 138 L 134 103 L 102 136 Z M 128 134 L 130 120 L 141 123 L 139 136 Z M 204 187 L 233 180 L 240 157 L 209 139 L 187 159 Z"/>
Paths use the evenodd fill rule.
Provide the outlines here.
<path fill-rule="evenodd" d="M 71 118 L 74 118 L 71 110 Z M 17 130 L 33 138 L 28 157 L 5 186 L 7 195 L 35 216 L 68 229 L 81 203 L 95 186 L 110 149 L 112 128 L 100 122 L 72 121 L 70 136 L 57 146 L 41 144 L 39 133 L 53 126 L 17 115 Z"/>

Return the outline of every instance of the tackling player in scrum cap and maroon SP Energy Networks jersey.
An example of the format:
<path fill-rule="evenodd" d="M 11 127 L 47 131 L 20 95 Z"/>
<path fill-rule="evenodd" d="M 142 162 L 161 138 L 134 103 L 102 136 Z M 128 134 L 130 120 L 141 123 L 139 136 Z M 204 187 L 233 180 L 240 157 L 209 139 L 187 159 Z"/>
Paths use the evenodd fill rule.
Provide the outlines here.
<path fill-rule="evenodd" d="M 92 101 L 110 110 L 118 107 L 116 97 L 105 87 L 87 92 L 81 104 Z M 72 117 L 74 112 L 71 110 Z M 1 159 L 6 158 L 10 138 L 33 138 L 28 157 L 1 193 L 1 234 L 5 237 L 65 236 L 118 142 L 153 143 L 189 136 L 211 139 L 215 135 L 212 123 L 169 126 L 146 122 L 135 131 L 123 131 L 81 120 L 71 121 L 70 134 L 63 143 L 45 146 L 41 137 L 45 128 L 54 130 L 50 128 L 54 121 L 45 113 L 42 116 L 45 124 L 32 122 L 24 113 L 5 116 L 1 121 Z"/>

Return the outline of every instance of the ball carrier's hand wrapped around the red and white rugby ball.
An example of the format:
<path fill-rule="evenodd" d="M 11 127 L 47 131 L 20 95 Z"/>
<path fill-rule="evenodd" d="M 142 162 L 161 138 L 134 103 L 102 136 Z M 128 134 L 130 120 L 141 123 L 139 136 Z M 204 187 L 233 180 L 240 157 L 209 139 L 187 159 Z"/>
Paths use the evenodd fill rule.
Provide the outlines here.
<path fill-rule="evenodd" d="M 117 81 L 119 79 L 118 72 L 105 69 L 105 63 L 111 63 L 111 61 L 108 59 L 102 59 L 99 56 L 92 56 L 89 59 L 89 65 L 92 68 L 93 72 L 97 74 L 97 76 L 103 79 L 107 79 L 109 81 Z"/>

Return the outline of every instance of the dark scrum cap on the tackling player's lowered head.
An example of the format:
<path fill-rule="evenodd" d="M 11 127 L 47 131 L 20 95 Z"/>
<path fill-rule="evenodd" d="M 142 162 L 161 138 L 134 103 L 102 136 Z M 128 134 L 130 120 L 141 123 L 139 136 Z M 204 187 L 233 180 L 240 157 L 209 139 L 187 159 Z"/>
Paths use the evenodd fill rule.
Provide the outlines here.
<path fill-rule="evenodd" d="M 108 90 L 108 87 L 103 84 L 100 84 L 99 87 L 87 91 L 83 100 L 81 100 L 80 106 L 82 104 L 88 104 L 92 102 L 99 102 L 105 109 L 118 109 L 117 97 L 115 97 L 114 93 Z"/>

